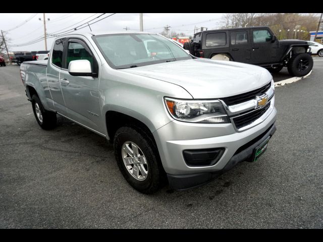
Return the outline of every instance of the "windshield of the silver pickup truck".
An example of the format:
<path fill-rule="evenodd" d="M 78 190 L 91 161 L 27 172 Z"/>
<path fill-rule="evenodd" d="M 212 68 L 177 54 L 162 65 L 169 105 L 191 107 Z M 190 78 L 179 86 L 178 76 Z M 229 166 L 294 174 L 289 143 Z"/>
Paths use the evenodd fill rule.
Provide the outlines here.
<path fill-rule="evenodd" d="M 116 69 L 192 58 L 176 43 L 157 34 L 109 34 L 93 39 L 107 63 Z"/>

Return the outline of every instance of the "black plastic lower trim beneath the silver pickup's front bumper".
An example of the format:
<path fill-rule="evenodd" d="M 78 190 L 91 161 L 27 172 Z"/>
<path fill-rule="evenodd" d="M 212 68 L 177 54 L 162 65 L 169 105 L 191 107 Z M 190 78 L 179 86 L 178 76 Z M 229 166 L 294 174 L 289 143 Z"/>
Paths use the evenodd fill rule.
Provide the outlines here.
<path fill-rule="evenodd" d="M 274 123 L 268 130 L 255 138 L 256 141 L 254 143 L 250 144 L 239 153 L 236 153 L 222 170 L 188 175 L 167 174 L 170 187 L 174 190 L 186 190 L 208 183 L 212 179 L 219 177 L 224 172 L 232 169 L 238 163 L 242 161 L 250 161 L 254 148 L 261 144 L 268 136 L 273 136 L 275 132 L 276 125 Z"/>

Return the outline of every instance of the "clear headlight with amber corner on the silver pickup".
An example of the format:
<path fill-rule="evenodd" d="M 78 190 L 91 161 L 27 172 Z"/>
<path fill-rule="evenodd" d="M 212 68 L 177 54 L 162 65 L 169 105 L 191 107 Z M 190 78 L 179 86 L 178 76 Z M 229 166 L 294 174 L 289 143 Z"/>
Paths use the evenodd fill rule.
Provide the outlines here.
<path fill-rule="evenodd" d="M 219 100 L 180 100 L 165 97 L 165 104 L 177 120 L 191 123 L 230 123 L 228 115 Z"/>

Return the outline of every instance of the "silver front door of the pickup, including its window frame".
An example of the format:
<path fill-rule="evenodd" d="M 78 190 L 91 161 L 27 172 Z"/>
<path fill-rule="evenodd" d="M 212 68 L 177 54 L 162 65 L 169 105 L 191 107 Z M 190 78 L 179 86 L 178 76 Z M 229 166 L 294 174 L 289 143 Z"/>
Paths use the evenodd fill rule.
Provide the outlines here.
<path fill-rule="evenodd" d="M 99 78 L 72 76 L 68 72 L 71 61 L 87 59 L 91 63 L 92 72 L 99 71 L 99 58 L 82 39 L 69 38 L 65 47 L 66 64 L 65 69 L 61 70 L 61 86 L 64 100 L 67 107 L 67 116 L 76 122 L 102 133 L 99 127 L 101 121 L 101 111 L 99 103 Z"/>

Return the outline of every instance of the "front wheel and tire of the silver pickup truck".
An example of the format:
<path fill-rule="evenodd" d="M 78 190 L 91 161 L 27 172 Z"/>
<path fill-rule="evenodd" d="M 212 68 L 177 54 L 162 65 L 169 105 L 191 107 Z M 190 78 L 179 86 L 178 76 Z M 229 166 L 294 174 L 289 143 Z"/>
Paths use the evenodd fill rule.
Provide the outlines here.
<path fill-rule="evenodd" d="M 144 194 L 152 194 L 159 190 L 164 185 L 166 178 L 157 147 L 154 144 L 147 132 L 138 127 L 121 127 L 114 137 L 114 152 L 121 173 L 134 189 Z M 129 155 L 131 152 L 127 146 L 130 150 L 136 150 L 135 146 L 137 146 L 138 152 L 135 153 L 140 156 Z M 129 159 L 132 159 L 129 165 L 125 164 L 123 157 L 128 158 L 128 162 Z M 138 157 L 141 157 L 139 158 L 141 160 L 136 160 Z M 136 164 L 136 162 L 141 164 Z M 135 175 L 138 170 L 136 167 L 140 167 L 138 175 Z M 145 172 L 147 173 L 145 174 Z"/>

